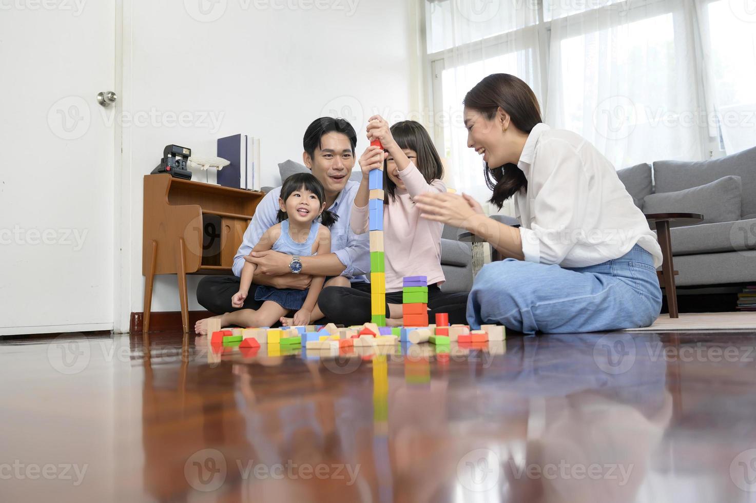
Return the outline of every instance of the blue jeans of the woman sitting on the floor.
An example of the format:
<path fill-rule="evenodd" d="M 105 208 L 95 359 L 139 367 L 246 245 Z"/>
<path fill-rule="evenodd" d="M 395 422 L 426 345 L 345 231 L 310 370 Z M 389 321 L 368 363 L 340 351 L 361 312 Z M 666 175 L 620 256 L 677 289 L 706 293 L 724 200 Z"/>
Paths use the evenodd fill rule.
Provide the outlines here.
<path fill-rule="evenodd" d="M 662 310 L 649 252 L 635 245 L 618 259 L 568 269 L 504 259 L 484 265 L 467 300 L 471 328 L 503 324 L 550 334 L 648 327 Z"/>

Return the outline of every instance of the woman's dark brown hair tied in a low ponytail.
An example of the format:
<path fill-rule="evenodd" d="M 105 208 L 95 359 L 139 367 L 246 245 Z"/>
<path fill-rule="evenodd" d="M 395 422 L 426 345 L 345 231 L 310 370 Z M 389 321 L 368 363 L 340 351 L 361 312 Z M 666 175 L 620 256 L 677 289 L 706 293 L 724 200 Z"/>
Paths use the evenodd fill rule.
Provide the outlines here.
<path fill-rule="evenodd" d="M 536 124 L 543 122 L 533 90 L 509 73 L 493 73 L 485 77 L 467 92 L 462 104 L 478 110 L 488 120 L 496 116 L 500 107 L 509 114 L 513 126 L 528 134 Z M 516 164 L 490 168 L 486 163 L 485 185 L 493 191 L 489 202 L 501 209 L 505 200 L 528 188 L 528 180 Z"/>

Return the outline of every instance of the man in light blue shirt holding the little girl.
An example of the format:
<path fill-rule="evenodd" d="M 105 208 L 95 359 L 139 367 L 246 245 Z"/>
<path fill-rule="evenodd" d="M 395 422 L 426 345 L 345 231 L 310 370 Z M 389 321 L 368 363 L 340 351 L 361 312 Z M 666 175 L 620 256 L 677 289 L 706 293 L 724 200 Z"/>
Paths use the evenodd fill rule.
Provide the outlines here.
<path fill-rule="evenodd" d="M 254 284 L 244 301 L 243 308 L 247 309 L 258 309 L 262 305 L 255 300 L 257 285 L 305 290 L 313 275 L 342 275 L 352 281 L 353 287 L 370 291 L 364 276 L 370 271 L 370 239 L 368 234 L 358 236 L 349 228 L 352 204 L 359 187 L 357 182 L 349 181 L 355 166 L 355 129 L 346 120 L 321 117 L 308 126 L 302 143 L 305 166 L 325 188 L 326 209 L 339 216 L 338 222 L 330 229 L 331 253 L 302 256 L 299 260 L 274 250 L 249 256 L 262 234 L 277 223 L 280 187 L 274 188 L 260 201 L 244 232 L 243 242 L 234 256 L 234 276 L 206 276 L 197 285 L 197 302 L 208 311 L 236 310 L 231 306 L 231 297 L 239 290 L 245 260 L 257 265 Z"/>

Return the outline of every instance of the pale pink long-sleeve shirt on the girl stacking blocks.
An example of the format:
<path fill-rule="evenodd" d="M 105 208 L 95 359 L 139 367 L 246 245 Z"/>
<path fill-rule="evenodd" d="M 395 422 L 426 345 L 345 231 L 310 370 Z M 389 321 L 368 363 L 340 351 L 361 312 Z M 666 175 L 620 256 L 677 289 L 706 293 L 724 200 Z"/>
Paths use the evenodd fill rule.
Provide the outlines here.
<path fill-rule="evenodd" d="M 386 252 L 386 292 L 401 291 L 405 276 L 427 276 L 428 284 L 445 281 L 441 269 L 441 233 L 444 224 L 420 218 L 420 210 L 412 202 L 417 194 L 446 192 L 441 180 L 428 183 L 414 163 L 398 172 L 406 191 L 395 191 L 383 205 L 383 247 Z M 352 205 L 350 226 L 355 234 L 369 228 L 368 206 Z"/>

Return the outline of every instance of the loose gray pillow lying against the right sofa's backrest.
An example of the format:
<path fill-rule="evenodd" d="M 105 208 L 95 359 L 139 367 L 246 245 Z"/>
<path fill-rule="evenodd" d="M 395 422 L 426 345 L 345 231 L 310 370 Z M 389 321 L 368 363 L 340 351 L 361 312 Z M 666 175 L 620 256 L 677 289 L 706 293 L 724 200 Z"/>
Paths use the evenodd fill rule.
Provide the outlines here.
<path fill-rule="evenodd" d="M 740 219 L 740 193 L 740 177 L 725 176 L 700 187 L 649 194 L 643 213 L 701 213 L 705 224 L 733 222 Z"/>

